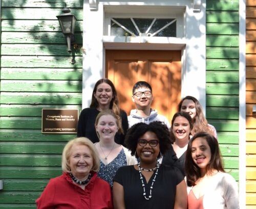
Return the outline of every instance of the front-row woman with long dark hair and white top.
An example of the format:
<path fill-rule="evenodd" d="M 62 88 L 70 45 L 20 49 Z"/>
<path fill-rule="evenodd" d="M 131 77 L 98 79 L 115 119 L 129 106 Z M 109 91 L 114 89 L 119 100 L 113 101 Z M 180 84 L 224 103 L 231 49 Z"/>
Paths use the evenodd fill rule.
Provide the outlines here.
<path fill-rule="evenodd" d="M 185 159 L 188 209 L 237 209 L 238 185 L 223 168 L 216 138 L 206 132 L 190 139 Z"/>

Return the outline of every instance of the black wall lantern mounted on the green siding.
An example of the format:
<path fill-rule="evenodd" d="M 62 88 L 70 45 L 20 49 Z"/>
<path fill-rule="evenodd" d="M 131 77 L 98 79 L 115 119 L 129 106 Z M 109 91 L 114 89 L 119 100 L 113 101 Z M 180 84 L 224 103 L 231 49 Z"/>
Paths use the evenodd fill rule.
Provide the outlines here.
<path fill-rule="evenodd" d="M 68 51 L 71 53 L 71 45 L 75 43 L 75 24 L 76 17 L 70 13 L 70 9 L 67 7 L 62 9 L 62 14 L 56 16 L 59 20 L 62 33 L 67 38 Z"/>

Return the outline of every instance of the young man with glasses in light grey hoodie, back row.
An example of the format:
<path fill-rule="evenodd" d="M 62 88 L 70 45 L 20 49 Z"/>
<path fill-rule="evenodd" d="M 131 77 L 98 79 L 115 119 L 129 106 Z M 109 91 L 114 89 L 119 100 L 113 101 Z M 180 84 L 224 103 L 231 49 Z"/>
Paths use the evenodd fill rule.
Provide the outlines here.
<path fill-rule="evenodd" d="M 134 124 L 143 122 L 149 124 L 153 121 L 161 121 L 170 127 L 168 119 L 157 114 L 157 110 L 151 108 L 153 101 L 152 87 L 145 81 L 139 81 L 133 86 L 132 100 L 135 103 L 136 109 L 131 110 L 128 116 L 129 127 Z"/>

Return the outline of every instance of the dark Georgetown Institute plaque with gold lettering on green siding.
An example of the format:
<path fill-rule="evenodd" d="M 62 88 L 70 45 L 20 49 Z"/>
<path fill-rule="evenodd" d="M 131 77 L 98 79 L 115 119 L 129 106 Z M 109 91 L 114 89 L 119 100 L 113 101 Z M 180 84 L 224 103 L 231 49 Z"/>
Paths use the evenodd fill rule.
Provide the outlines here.
<path fill-rule="evenodd" d="M 78 109 L 42 109 L 42 134 L 76 134 Z"/>

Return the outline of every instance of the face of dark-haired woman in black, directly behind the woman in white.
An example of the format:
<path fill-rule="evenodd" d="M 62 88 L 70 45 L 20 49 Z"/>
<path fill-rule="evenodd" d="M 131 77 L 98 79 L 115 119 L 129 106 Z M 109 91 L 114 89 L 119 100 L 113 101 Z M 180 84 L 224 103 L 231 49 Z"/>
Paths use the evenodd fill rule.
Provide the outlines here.
<path fill-rule="evenodd" d="M 189 116 L 187 116 L 189 117 Z M 188 120 L 183 116 L 177 116 L 172 125 L 173 134 L 176 141 L 189 140 L 189 133 L 191 131 Z"/>

